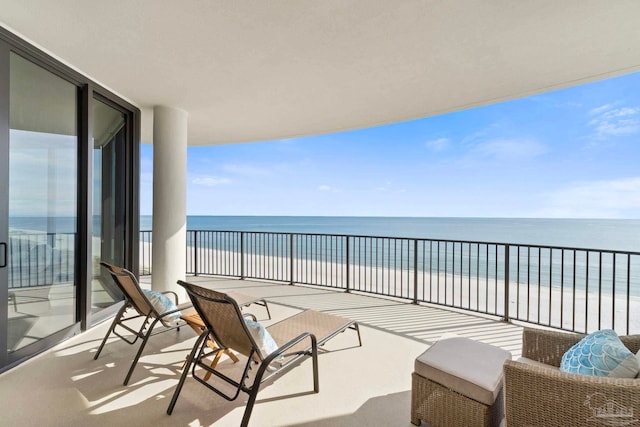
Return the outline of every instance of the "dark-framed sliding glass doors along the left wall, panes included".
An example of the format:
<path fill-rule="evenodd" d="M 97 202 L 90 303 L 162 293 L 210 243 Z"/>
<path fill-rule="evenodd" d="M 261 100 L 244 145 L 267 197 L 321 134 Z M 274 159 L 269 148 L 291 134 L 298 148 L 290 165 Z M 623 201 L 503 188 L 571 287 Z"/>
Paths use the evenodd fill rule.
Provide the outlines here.
<path fill-rule="evenodd" d="M 137 271 L 139 111 L 0 27 L 0 372 L 115 314 Z"/>

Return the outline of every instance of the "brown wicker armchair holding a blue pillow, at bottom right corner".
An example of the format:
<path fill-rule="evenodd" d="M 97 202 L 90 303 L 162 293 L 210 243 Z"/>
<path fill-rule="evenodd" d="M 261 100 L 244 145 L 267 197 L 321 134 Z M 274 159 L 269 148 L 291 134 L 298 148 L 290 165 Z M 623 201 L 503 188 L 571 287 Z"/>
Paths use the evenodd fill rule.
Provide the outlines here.
<path fill-rule="evenodd" d="M 549 367 L 507 361 L 504 399 L 507 427 L 640 423 L 640 378 L 605 378 L 561 372 L 564 353 L 585 335 L 524 329 L 522 357 Z M 640 335 L 621 336 L 633 353 Z"/>

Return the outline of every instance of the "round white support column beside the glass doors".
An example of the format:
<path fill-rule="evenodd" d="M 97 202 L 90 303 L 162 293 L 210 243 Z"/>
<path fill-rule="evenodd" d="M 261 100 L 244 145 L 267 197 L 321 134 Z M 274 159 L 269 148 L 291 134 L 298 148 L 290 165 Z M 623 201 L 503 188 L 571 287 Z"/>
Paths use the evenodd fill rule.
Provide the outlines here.
<path fill-rule="evenodd" d="M 152 288 L 174 291 L 184 280 L 187 236 L 187 117 L 186 111 L 153 109 L 153 243 Z"/>

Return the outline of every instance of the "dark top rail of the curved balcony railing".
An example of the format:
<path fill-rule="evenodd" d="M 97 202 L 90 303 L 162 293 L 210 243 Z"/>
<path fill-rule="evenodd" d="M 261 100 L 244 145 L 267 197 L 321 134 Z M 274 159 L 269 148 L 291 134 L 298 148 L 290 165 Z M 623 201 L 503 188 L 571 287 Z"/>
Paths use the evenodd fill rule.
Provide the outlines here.
<path fill-rule="evenodd" d="M 371 236 L 360 234 L 335 234 L 335 233 L 305 233 L 294 231 L 252 231 L 252 230 L 187 230 L 187 232 L 215 232 L 215 233 L 248 233 L 248 234 L 279 234 L 279 235 L 293 235 L 293 236 L 327 236 L 327 237 L 351 237 L 351 238 L 368 238 L 368 239 L 391 239 L 391 240 L 417 240 L 424 242 L 448 242 L 448 243 L 463 243 L 472 245 L 489 245 L 489 246 L 511 246 L 521 248 L 540 248 L 550 250 L 568 250 L 579 252 L 600 252 L 609 254 L 621 254 L 621 255 L 634 255 L 640 256 L 640 251 L 625 251 L 620 249 L 602 249 L 602 248 L 585 248 L 574 246 L 557 246 L 557 245 L 537 245 L 532 243 L 510 243 L 510 242 L 492 242 L 492 241 L 479 241 L 479 240 L 455 240 L 455 239 L 439 239 L 428 237 L 403 237 L 403 236 Z M 141 230 L 141 232 L 147 233 L 151 230 Z"/>

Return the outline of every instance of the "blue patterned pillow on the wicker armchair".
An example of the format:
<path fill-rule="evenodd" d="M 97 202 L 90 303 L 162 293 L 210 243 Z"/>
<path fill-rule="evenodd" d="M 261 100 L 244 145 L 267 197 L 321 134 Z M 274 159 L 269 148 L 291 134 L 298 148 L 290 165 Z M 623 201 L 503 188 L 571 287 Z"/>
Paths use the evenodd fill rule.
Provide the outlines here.
<path fill-rule="evenodd" d="M 562 356 L 560 370 L 597 377 L 635 378 L 640 365 L 615 331 L 605 329 L 584 337 Z"/>

